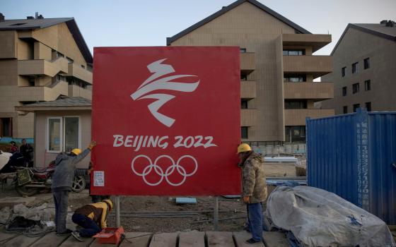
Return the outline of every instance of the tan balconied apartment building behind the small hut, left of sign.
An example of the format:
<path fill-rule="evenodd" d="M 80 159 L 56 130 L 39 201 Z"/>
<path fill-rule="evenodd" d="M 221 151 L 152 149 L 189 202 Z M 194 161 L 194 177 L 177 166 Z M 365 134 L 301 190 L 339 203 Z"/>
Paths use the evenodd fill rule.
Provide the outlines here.
<path fill-rule="evenodd" d="M 0 137 L 34 137 L 34 114 L 16 107 L 59 96 L 91 100 L 92 63 L 74 18 L 0 13 Z"/>

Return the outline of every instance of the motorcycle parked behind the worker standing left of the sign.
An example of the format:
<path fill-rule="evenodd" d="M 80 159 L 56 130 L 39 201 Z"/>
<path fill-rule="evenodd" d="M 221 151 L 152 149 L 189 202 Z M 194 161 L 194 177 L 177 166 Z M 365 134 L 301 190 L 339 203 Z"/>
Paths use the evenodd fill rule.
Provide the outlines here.
<path fill-rule="evenodd" d="M 51 190 L 52 175 L 55 171 L 54 162 L 45 169 L 33 167 L 15 167 L 16 168 L 16 192 L 22 196 L 32 196 L 42 190 Z M 76 193 L 86 188 L 86 179 L 83 176 L 74 174 L 71 191 Z"/>

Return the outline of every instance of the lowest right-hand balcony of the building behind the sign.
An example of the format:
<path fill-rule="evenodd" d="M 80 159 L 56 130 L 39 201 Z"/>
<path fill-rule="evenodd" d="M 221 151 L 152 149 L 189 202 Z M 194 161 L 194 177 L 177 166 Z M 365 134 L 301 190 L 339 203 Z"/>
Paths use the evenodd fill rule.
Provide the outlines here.
<path fill-rule="evenodd" d="M 285 126 L 305 126 L 305 118 L 316 119 L 333 116 L 334 109 L 285 109 Z"/>

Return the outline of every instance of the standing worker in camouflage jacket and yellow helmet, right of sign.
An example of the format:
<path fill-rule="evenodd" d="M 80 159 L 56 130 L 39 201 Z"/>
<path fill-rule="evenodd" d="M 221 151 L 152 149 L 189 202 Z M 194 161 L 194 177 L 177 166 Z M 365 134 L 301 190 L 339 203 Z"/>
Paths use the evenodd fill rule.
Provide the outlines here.
<path fill-rule="evenodd" d="M 267 198 L 264 158 L 253 152 L 247 143 L 238 146 L 238 156 L 238 167 L 242 169 L 243 202 L 248 207 L 248 228 L 252 234 L 252 238 L 246 240 L 246 243 L 260 243 L 263 225 L 262 202 Z"/>

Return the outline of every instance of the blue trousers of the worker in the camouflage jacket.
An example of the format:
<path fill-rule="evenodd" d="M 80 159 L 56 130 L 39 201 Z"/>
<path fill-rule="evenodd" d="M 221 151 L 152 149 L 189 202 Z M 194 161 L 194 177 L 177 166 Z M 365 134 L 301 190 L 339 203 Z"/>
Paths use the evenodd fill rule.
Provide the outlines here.
<path fill-rule="evenodd" d="M 262 204 L 261 203 L 249 203 L 248 207 L 248 224 L 250 232 L 252 233 L 252 239 L 255 241 L 262 241 Z"/>

